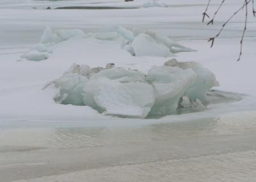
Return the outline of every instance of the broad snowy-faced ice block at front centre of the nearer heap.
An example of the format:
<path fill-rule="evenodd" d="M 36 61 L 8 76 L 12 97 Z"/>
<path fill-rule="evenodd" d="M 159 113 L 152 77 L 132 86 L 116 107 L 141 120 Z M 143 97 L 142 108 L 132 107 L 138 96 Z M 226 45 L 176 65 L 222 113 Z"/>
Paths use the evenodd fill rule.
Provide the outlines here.
<path fill-rule="evenodd" d="M 104 77 L 90 80 L 84 87 L 84 103 L 105 114 L 126 118 L 145 118 L 153 103 L 152 86 L 146 82 L 125 82 Z M 93 99 L 94 100 L 93 100 Z"/>

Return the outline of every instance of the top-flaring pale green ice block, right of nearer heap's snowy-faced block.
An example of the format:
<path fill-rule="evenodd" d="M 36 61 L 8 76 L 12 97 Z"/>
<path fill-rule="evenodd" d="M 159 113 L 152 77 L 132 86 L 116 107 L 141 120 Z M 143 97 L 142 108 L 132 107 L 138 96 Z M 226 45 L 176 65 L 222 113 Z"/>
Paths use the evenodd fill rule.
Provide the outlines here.
<path fill-rule="evenodd" d="M 147 75 L 147 81 L 154 87 L 156 102 L 150 111 L 152 116 L 175 114 L 180 98 L 195 80 L 193 70 L 182 70 L 170 66 L 153 66 Z"/>

